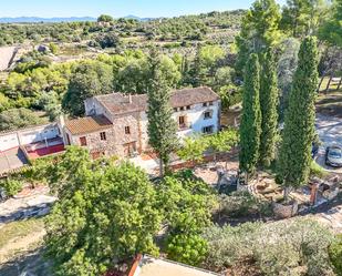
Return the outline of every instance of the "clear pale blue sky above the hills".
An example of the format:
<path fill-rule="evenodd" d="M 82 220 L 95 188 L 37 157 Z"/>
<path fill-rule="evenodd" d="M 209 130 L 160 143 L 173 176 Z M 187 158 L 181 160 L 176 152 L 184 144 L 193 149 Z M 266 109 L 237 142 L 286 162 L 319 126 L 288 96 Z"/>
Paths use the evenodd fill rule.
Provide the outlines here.
<path fill-rule="evenodd" d="M 0 17 L 175 17 L 246 9 L 252 0 L 0 0 Z M 284 0 L 278 0 L 283 3 Z"/>

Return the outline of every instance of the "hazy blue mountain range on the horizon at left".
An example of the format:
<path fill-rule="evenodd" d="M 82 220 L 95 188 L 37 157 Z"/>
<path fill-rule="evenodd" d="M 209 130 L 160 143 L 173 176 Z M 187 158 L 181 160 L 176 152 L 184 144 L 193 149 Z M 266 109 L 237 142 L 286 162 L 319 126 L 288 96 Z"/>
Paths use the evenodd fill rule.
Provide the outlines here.
<path fill-rule="evenodd" d="M 91 17 L 71 17 L 71 18 L 37 18 L 37 17 L 19 17 L 19 18 L 0 18 L 0 23 L 37 23 L 37 22 L 75 22 L 75 21 L 96 21 Z"/>

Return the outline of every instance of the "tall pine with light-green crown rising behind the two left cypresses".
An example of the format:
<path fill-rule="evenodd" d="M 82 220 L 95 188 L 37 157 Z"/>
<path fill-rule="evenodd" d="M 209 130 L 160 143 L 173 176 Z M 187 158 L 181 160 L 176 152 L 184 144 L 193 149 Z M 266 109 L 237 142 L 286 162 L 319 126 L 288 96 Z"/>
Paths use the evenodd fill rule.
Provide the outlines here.
<path fill-rule="evenodd" d="M 240 34 L 236 38 L 238 58 L 237 73 L 242 75 L 248 57 L 251 52 L 261 52 L 277 44 L 280 40 L 279 31 L 280 9 L 274 0 L 257 0 L 242 19 Z"/>

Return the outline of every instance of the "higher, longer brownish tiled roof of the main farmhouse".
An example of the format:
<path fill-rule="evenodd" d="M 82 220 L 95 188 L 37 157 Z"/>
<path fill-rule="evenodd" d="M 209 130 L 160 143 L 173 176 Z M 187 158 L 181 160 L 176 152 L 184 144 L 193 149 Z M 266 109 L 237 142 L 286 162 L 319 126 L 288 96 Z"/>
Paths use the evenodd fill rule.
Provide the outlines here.
<path fill-rule="evenodd" d="M 131 96 L 131 102 L 129 96 L 123 93 L 97 95 L 95 99 L 101 102 L 112 114 L 123 114 L 147 110 L 147 94 L 135 94 Z M 207 86 L 182 89 L 173 91 L 170 96 L 170 105 L 172 108 L 180 108 L 217 100 L 219 100 L 219 96 Z"/>

